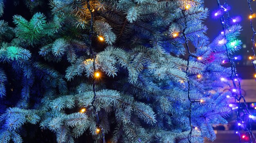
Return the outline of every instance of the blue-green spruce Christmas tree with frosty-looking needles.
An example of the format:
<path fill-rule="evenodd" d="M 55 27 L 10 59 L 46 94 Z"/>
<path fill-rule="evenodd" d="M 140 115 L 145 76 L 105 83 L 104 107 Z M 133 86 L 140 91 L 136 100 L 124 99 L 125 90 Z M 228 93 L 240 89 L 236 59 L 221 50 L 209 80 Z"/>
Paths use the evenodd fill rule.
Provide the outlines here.
<path fill-rule="evenodd" d="M 31 18 L 0 20 L 1 143 L 198 143 L 227 124 L 241 27 L 210 43 L 203 0 L 13 4 Z"/>

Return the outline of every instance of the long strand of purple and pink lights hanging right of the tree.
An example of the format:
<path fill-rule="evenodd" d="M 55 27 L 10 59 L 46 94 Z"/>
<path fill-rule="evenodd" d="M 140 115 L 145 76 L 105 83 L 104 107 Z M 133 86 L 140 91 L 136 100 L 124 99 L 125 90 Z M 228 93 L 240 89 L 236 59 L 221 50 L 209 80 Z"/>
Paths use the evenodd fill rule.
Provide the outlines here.
<path fill-rule="evenodd" d="M 223 9 L 223 6 L 220 5 L 220 0 L 217 0 L 217 2 L 218 2 L 218 6 L 219 6 L 219 8 L 221 10 L 220 22 L 222 24 L 222 29 L 223 29 L 223 32 L 224 32 L 223 33 L 224 34 L 224 38 L 226 38 L 226 30 L 230 30 L 229 23 L 227 21 L 228 19 L 230 19 L 229 12 L 227 10 L 225 11 L 225 8 Z M 227 0 L 225 0 L 225 6 L 227 6 Z M 224 13 L 226 14 L 227 20 L 225 20 Z M 234 97 L 235 103 L 236 103 L 236 100 L 237 100 L 238 103 L 239 103 L 239 106 L 240 106 L 240 110 L 243 111 L 243 116 L 242 117 L 240 117 L 240 112 L 239 112 L 240 110 L 239 109 L 236 112 L 236 115 L 237 115 L 236 121 L 237 121 L 237 125 L 238 125 L 238 130 L 239 130 L 239 126 L 241 125 L 239 123 L 239 121 L 242 120 L 242 123 L 243 123 L 243 126 L 244 126 L 244 130 L 249 134 L 250 142 L 252 143 L 252 137 L 253 137 L 254 141 L 256 141 L 256 139 L 255 139 L 255 136 L 254 136 L 254 134 L 252 133 L 252 130 L 251 130 L 252 126 L 251 126 L 250 118 L 249 118 L 249 127 L 247 127 L 245 125 L 245 115 L 250 115 L 250 112 L 249 112 L 249 110 L 247 108 L 245 98 L 244 98 L 244 96 L 241 93 L 241 84 L 240 84 L 240 80 L 238 78 L 238 75 L 236 73 L 236 64 L 234 63 L 234 59 L 231 58 L 232 54 L 228 52 L 228 48 L 227 48 L 226 43 L 224 45 L 225 45 L 225 48 L 226 48 L 226 53 L 227 53 L 227 57 L 229 59 L 229 63 L 231 65 L 231 80 L 232 80 L 232 83 L 233 83 L 233 86 L 234 86 L 234 89 L 235 89 L 234 91 L 237 91 L 237 89 L 239 89 L 239 98 L 238 98 L 238 93 L 237 92 L 235 93 L 236 94 L 235 97 Z M 238 81 L 238 88 L 236 86 L 234 78 Z M 240 100 L 242 98 L 243 98 L 243 101 L 244 101 L 244 105 L 242 105 L 242 103 L 240 102 Z M 240 133 L 238 132 L 238 130 L 236 131 L 236 134 L 239 135 Z M 241 143 L 240 136 L 239 136 L 239 143 Z"/>

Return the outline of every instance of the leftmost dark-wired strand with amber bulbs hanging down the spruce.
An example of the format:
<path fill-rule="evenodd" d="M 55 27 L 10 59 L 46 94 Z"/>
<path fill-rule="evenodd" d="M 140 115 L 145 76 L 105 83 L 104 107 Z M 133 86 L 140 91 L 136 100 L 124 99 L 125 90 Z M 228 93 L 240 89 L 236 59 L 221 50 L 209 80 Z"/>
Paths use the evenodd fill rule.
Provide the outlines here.
<path fill-rule="evenodd" d="M 96 73 L 96 68 L 95 68 L 95 58 L 96 58 L 96 56 L 95 56 L 95 54 L 94 54 L 94 52 L 92 50 L 92 36 L 95 35 L 95 32 L 94 32 L 93 27 L 92 27 L 93 26 L 93 13 L 92 13 L 92 9 L 90 8 L 90 0 L 87 0 L 87 8 L 88 8 L 88 10 L 90 11 L 90 14 L 91 14 L 89 39 L 90 39 L 90 54 L 91 54 L 92 59 L 93 59 L 93 73 L 95 74 Z M 103 127 L 100 124 L 99 115 L 98 115 L 97 109 L 94 106 L 94 102 L 95 102 L 95 100 L 97 98 L 95 86 L 96 86 L 96 80 L 93 79 L 93 84 L 92 84 L 93 99 L 92 99 L 91 105 L 93 107 L 93 110 L 96 112 L 96 118 L 97 118 L 97 130 L 96 130 L 96 133 L 98 134 L 99 132 L 101 132 L 102 133 L 102 137 L 103 137 L 103 143 L 106 143 L 105 135 L 104 135 L 104 130 L 103 130 Z"/>

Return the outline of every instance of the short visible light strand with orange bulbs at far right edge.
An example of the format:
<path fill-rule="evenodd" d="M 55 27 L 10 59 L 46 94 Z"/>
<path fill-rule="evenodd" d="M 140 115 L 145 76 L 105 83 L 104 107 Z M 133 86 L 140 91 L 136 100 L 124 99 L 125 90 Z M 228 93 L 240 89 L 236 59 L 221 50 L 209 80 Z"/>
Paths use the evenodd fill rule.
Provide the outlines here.
<path fill-rule="evenodd" d="M 252 6 L 251 6 L 251 2 L 254 1 L 254 0 L 247 0 L 248 1 L 248 5 L 249 5 L 249 10 L 250 10 L 250 16 L 249 16 L 249 19 L 250 19 L 250 26 L 252 28 L 252 32 L 253 32 L 253 35 L 252 35 L 252 54 L 253 54 L 253 58 L 250 58 L 250 60 L 252 60 L 252 65 L 255 69 L 255 72 L 256 72 L 256 65 L 254 64 L 254 58 L 255 58 L 255 51 L 254 51 L 254 47 L 256 47 L 256 44 L 255 44 L 255 34 L 256 34 L 256 31 L 254 30 L 254 26 L 253 26 L 253 22 L 252 22 L 252 18 L 253 18 L 253 11 L 252 11 Z"/>

